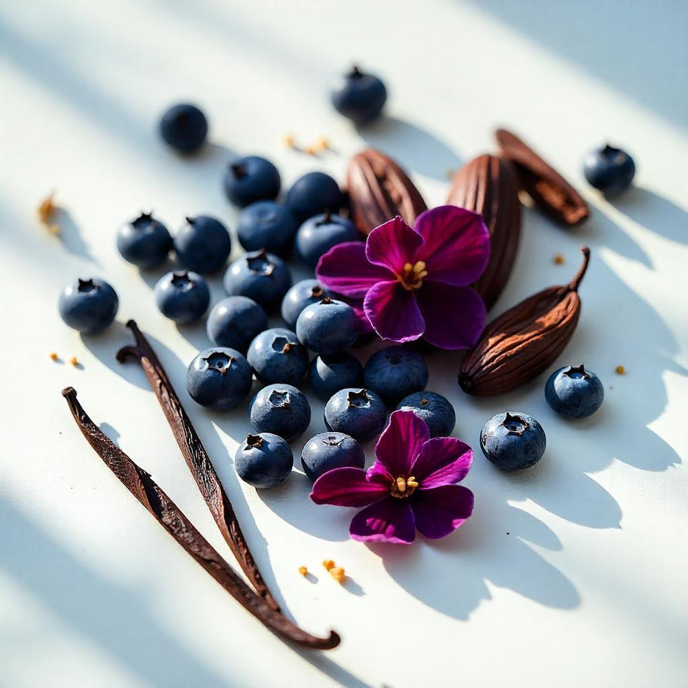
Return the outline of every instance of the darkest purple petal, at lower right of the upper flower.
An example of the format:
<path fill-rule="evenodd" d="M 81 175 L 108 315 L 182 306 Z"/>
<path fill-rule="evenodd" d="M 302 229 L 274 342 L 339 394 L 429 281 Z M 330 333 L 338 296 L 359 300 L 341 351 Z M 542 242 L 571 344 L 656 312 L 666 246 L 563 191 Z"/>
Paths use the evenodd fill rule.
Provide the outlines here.
<path fill-rule="evenodd" d="M 467 349 L 477 342 L 487 311 L 473 289 L 426 280 L 416 299 L 425 320 L 423 338 L 429 343 L 440 349 Z"/>

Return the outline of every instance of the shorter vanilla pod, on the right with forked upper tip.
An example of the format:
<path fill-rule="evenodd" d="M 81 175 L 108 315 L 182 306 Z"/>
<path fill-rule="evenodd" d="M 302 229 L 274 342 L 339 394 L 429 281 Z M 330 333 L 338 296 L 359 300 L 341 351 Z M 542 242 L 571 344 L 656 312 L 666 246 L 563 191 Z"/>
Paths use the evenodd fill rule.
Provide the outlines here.
<path fill-rule="evenodd" d="M 141 330 L 138 329 L 138 325 L 130 320 L 127 327 L 133 332 L 136 345 L 122 347 L 117 352 L 117 360 L 122 363 L 129 357 L 136 358 L 142 367 L 155 396 L 158 397 L 177 444 L 182 450 L 186 465 L 189 466 L 191 475 L 193 475 L 193 479 L 196 481 L 220 533 L 222 533 L 222 537 L 226 540 L 234 556 L 237 557 L 237 561 L 239 561 L 239 565 L 248 579 L 255 586 L 256 592 L 265 598 L 270 607 L 279 611 L 279 605 L 268 590 L 257 563 L 251 555 L 244 533 L 241 533 L 237 515 L 234 513 L 222 482 L 217 477 L 215 467 L 193 424 L 191 424 L 189 416 L 186 415 L 182 402 L 174 391 L 162 363 L 160 363 L 158 356 L 155 355 Z"/>

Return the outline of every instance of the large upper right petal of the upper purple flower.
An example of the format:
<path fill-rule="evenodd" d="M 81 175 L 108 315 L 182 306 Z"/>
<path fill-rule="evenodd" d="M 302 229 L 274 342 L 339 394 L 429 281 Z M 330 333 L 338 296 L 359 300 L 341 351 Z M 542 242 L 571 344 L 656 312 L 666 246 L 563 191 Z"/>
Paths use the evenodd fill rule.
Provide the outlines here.
<path fill-rule="evenodd" d="M 427 280 L 462 287 L 484 272 L 490 233 L 477 213 L 440 206 L 418 215 L 415 229 L 424 239 L 416 260 L 425 261 Z"/>

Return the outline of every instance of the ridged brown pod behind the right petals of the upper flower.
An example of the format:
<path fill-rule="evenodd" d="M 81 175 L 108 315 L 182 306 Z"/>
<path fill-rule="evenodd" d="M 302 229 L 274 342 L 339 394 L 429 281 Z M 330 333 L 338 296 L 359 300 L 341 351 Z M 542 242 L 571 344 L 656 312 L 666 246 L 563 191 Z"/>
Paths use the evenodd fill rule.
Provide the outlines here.
<path fill-rule="evenodd" d="M 473 287 L 492 308 L 511 274 L 521 238 L 519 184 L 513 164 L 480 155 L 454 176 L 447 203 L 480 213 L 490 230 L 490 261 Z"/>

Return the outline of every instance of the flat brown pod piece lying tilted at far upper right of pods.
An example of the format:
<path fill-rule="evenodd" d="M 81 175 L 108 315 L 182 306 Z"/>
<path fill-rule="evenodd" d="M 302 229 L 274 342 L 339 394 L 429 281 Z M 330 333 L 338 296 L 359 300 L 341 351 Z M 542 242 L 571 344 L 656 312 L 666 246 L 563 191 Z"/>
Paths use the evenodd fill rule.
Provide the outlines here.
<path fill-rule="evenodd" d="M 499 155 L 515 164 L 522 189 L 545 215 L 569 227 L 588 218 L 588 205 L 578 191 L 518 136 L 497 129 L 495 138 Z"/>

